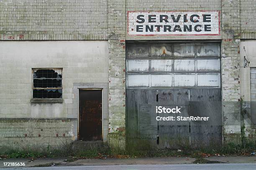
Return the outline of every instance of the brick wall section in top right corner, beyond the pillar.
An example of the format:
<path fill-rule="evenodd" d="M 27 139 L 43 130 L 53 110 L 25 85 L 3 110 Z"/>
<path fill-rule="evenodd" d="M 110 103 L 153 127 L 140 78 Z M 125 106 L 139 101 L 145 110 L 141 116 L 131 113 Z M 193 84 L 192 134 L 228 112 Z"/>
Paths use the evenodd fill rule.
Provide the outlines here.
<path fill-rule="evenodd" d="M 240 25 L 241 38 L 255 39 L 256 38 L 256 0 L 241 0 L 240 1 Z"/>

